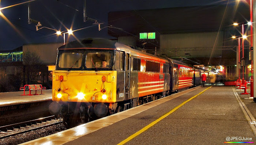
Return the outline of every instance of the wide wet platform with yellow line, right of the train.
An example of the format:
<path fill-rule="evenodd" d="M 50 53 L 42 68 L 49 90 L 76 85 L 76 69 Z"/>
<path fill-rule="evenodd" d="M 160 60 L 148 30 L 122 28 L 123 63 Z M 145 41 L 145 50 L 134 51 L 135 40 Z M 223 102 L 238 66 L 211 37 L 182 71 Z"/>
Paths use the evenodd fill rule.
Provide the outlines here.
<path fill-rule="evenodd" d="M 23 145 L 256 143 L 256 103 L 240 92 L 195 87 Z"/>

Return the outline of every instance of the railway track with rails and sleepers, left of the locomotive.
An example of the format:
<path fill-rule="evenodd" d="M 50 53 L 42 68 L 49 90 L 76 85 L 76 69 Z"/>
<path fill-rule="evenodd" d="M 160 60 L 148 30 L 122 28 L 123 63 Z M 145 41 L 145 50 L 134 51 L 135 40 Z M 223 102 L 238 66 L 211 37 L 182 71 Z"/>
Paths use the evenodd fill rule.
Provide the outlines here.
<path fill-rule="evenodd" d="M 32 130 L 41 129 L 44 127 L 61 123 L 63 119 L 55 119 L 54 116 L 39 118 L 31 121 L 15 123 L 0 127 L 0 139 L 15 136 L 17 134 L 26 133 Z"/>

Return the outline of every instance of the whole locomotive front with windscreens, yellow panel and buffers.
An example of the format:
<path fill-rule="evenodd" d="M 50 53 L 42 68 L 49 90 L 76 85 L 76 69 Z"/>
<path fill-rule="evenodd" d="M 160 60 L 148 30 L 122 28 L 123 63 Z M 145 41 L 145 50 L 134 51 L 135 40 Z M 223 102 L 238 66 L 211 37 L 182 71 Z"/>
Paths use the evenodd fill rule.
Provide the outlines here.
<path fill-rule="evenodd" d="M 111 114 L 112 105 L 117 101 L 113 61 L 114 50 L 59 49 L 53 71 L 50 112 L 61 113 L 69 124 L 75 116 L 101 118 Z"/>

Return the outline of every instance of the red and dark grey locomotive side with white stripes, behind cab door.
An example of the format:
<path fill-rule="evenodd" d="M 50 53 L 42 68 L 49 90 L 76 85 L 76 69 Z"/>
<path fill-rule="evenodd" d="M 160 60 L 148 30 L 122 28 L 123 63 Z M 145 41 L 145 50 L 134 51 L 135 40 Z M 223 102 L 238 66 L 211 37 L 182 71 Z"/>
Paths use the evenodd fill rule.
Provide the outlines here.
<path fill-rule="evenodd" d="M 139 50 L 130 50 L 129 99 L 131 106 L 143 99 L 154 100 L 156 95 L 169 93 L 168 61 Z M 147 102 L 146 101 L 146 102 Z"/>

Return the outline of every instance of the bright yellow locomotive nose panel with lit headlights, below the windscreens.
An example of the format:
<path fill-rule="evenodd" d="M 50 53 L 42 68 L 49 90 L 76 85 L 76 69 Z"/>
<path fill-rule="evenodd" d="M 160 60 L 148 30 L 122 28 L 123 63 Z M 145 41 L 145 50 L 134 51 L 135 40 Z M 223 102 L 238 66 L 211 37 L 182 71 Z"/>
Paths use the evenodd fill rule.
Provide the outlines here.
<path fill-rule="evenodd" d="M 53 71 L 53 96 L 56 102 L 116 102 L 114 71 Z M 115 91 L 114 91 L 115 92 Z"/>

